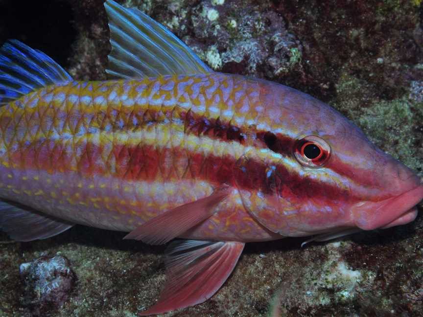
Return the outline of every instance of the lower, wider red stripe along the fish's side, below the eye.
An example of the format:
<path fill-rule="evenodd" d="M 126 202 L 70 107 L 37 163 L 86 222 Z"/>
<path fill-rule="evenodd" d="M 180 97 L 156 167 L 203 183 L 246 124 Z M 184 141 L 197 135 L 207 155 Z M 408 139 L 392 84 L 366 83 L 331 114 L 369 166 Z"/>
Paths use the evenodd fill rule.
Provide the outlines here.
<path fill-rule="evenodd" d="M 128 147 L 111 145 L 111 154 L 103 161 L 104 148 L 92 143 L 55 145 L 54 141 L 38 142 L 15 151 L 11 158 L 21 169 L 39 168 L 49 173 L 64 172 L 75 167 L 86 177 L 112 176 L 126 181 L 205 180 L 218 186 L 227 183 L 263 194 L 278 193 L 284 198 L 348 200 L 350 193 L 316 180 L 289 173 L 283 165 L 270 172 L 266 164 L 255 159 L 235 159 L 191 153 L 179 148 L 156 148 L 151 145 Z M 76 151 L 76 152 L 73 152 Z"/>

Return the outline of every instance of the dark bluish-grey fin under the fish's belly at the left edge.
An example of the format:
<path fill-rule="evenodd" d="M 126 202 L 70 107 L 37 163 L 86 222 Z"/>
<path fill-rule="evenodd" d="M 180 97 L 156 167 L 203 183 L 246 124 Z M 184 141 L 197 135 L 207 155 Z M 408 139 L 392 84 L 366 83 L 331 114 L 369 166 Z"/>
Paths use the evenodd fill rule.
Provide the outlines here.
<path fill-rule="evenodd" d="M 73 224 L 43 215 L 25 206 L 0 202 L 0 229 L 16 241 L 47 239 L 68 230 Z"/>

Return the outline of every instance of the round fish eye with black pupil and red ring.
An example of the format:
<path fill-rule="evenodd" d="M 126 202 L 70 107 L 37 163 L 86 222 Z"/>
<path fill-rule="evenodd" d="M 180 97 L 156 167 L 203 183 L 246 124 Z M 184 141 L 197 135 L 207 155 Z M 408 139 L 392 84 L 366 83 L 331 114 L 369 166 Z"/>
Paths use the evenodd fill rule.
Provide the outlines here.
<path fill-rule="evenodd" d="M 318 136 L 306 136 L 299 140 L 294 151 L 297 160 L 305 166 L 322 166 L 329 158 L 329 144 Z"/>

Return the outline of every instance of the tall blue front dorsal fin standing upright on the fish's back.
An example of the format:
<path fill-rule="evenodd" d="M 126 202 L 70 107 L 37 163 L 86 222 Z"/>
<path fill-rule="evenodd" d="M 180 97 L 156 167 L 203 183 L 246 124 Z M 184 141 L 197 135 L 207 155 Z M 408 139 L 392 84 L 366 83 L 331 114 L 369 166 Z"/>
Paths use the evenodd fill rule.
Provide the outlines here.
<path fill-rule="evenodd" d="M 107 0 L 104 7 L 112 45 L 106 72 L 111 77 L 140 79 L 212 72 L 187 45 L 140 10 L 124 8 L 113 0 Z"/>

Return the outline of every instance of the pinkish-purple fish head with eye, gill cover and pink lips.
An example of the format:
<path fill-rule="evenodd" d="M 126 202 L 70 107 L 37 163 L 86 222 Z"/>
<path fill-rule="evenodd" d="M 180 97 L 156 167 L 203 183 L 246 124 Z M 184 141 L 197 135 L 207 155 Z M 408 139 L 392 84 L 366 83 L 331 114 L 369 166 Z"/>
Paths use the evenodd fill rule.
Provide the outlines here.
<path fill-rule="evenodd" d="M 423 184 L 411 169 L 329 105 L 272 87 L 262 94 L 262 120 L 273 128 L 258 137 L 267 145 L 261 152 L 271 155 L 247 153 L 239 161 L 241 171 L 253 170 L 251 162 L 260 160 L 266 167 L 256 178 L 256 192 L 241 191 L 261 225 L 284 236 L 307 236 L 387 228 L 416 218 Z"/>

